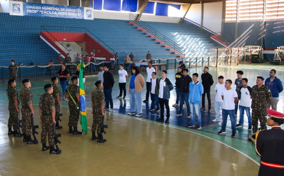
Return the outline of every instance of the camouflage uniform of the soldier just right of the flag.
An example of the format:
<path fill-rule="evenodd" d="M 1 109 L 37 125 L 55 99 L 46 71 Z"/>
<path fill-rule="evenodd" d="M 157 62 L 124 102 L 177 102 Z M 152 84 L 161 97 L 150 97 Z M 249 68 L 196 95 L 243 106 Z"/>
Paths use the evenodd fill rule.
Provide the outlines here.
<path fill-rule="evenodd" d="M 97 88 L 92 92 L 92 102 L 94 104 L 94 110 L 93 110 L 93 125 L 92 125 L 91 131 L 95 132 L 97 128 L 98 135 L 101 131 L 101 126 L 102 126 L 101 103 L 104 102 L 104 99 L 105 99 L 105 96 L 102 92 L 102 89 Z"/>

